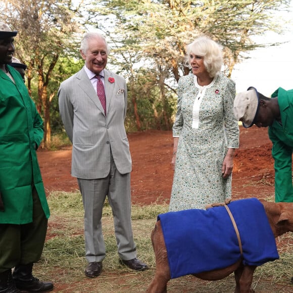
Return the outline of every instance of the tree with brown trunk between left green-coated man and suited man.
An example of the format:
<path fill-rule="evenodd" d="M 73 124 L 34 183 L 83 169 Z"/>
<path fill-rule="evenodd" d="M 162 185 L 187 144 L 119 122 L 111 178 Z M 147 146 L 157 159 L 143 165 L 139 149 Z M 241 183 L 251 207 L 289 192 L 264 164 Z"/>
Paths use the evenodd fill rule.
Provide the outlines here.
<path fill-rule="evenodd" d="M 44 144 L 51 140 L 50 106 L 56 97 L 48 85 L 59 57 L 77 47 L 72 37 L 80 30 L 78 10 L 71 0 L 6 0 L 0 4 L 0 15 L 18 31 L 16 55 L 28 66 L 29 94 L 34 84 L 37 87 L 34 100 L 44 118 Z"/>

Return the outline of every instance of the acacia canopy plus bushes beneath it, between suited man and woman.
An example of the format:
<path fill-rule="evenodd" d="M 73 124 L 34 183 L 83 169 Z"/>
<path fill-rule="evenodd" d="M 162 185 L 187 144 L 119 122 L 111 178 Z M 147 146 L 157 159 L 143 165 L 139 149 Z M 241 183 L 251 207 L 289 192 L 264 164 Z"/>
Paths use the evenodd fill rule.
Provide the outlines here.
<path fill-rule="evenodd" d="M 230 76 L 242 52 L 263 46 L 255 43 L 255 35 L 281 29 L 272 15 L 289 1 L 111 0 L 92 4 L 88 23 L 107 35 L 114 48 L 111 63 L 128 80 L 126 126 L 132 131 L 170 129 L 177 82 L 189 73 L 184 64 L 186 44 L 201 34 L 221 43 L 225 73 Z"/>

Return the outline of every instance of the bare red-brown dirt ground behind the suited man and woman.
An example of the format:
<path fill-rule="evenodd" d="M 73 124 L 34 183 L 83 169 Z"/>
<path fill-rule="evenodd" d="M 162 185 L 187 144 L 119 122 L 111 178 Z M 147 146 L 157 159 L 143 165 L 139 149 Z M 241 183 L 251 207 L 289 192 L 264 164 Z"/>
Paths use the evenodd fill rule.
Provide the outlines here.
<path fill-rule="evenodd" d="M 129 133 L 128 139 L 133 166 L 132 204 L 168 204 L 173 181 L 170 164 L 173 152 L 172 132 L 149 130 Z M 246 129 L 240 126 L 240 146 L 234 157 L 232 199 L 274 196 L 274 161 L 271 146 L 267 129 L 256 126 Z M 78 189 L 76 178 L 70 175 L 71 146 L 58 151 L 39 150 L 37 154 L 47 194 L 57 190 Z M 267 282 L 267 288 L 270 288 L 270 280 L 263 282 Z M 54 292 L 59 292 L 62 287 L 63 284 L 56 284 Z M 181 289 L 183 292 L 184 288 Z M 291 285 L 276 284 L 272 289 L 274 292 L 289 292 Z"/>

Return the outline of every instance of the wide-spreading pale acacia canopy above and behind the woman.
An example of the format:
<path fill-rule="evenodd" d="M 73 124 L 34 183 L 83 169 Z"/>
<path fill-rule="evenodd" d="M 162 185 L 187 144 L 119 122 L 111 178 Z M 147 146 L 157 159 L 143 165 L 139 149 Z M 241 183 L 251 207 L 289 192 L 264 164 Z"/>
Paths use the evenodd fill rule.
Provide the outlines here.
<path fill-rule="evenodd" d="M 194 38 L 205 34 L 222 44 L 225 73 L 229 77 L 242 53 L 264 46 L 254 41 L 255 35 L 280 31 L 281 23 L 276 23 L 274 13 L 286 9 L 289 3 L 289 0 L 100 0 L 92 2 L 88 23 L 106 32 L 114 40 L 113 45 L 118 44 L 117 60 L 119 54 L 134 53 L 139 64 L 156 75 L 157 83 L 163 82 L 170 89 L 170 80 L 178 82 L 181 75 L 189 73 L 184 63 L 185 47 Z M 127 65 L 121 68 L 127 71 Z M 164 96 L 164 91 L 161 92 Z"/>

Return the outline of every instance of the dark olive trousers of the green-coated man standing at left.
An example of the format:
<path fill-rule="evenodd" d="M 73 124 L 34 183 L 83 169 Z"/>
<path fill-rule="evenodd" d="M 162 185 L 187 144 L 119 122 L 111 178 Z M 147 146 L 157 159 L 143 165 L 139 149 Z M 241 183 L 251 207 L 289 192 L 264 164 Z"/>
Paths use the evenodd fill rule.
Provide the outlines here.
<path fill-rule="evenodd" d="M 47 219 L 35 187 L 32 223 L 0 224 L 0 273 L 17 265 L 39 261 L 47 232 Z"/>

